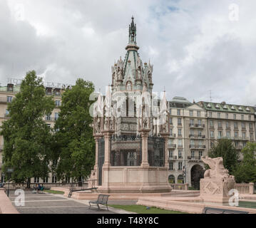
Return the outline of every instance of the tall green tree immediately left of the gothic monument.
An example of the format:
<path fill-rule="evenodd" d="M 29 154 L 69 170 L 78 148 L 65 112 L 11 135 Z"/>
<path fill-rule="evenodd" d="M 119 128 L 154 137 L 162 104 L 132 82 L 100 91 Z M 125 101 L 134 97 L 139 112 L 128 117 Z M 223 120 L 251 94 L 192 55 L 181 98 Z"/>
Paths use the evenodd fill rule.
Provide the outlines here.
<path fill-rule="evenodd" d="M 89 98 L 93 91 L 93 83 L 78 79 L 76 86 L 63 93 L 61 112 L 55 125 L 54 159 L 58 159 L 58 165 L 53 167 L 53 172 L 58 180 L 87 177 L 94 165 L 93 118 L 89 113 L 93 103 Z"/>

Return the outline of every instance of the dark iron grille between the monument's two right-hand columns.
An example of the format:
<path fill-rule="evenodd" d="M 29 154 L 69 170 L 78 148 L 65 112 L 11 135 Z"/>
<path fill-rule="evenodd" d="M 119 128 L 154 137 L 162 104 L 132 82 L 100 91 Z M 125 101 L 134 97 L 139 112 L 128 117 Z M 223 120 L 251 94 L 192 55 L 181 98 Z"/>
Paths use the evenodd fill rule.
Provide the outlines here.
<path fill-rule="evenodd" d="M 148 137 L 148 163 L 150 166 L 163 167 L 165 165 L 165 139 Z"/>

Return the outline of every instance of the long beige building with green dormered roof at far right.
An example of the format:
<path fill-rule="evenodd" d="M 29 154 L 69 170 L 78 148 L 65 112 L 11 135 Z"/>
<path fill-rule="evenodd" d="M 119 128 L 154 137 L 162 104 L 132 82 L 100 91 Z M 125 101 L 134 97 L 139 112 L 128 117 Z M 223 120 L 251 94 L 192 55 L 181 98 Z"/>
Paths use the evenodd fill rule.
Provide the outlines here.
<path fill-rule="evenodd" d="M 206 111 L 209 148 L 220 138 L 233 140 L 238 151 L 241 151 L 247 142 L 255 142 L 255 107 L 225 102 L 200 101 L 198 104 Z"/>

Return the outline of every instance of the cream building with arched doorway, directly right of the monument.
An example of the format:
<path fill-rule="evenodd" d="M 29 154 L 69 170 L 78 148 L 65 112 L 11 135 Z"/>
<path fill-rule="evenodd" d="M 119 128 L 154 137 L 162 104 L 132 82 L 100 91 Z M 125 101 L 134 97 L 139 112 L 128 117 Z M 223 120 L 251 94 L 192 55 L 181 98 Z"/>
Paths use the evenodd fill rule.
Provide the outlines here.
<path fill-rule="evenodd" d="M 205 110 L 197 103 L 190 103 L 182 97 L 175 97 L 169 102 L 170 139 L 169 181 L 174 183 L 200 180 L 203 162 L 200 157 L 207 155 L 207 125 Z"/>

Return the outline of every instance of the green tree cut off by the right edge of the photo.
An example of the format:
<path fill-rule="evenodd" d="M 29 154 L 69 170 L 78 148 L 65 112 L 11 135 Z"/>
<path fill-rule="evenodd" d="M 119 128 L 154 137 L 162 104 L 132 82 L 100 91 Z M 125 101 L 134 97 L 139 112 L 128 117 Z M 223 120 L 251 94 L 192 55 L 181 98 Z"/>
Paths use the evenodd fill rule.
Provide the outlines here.
<path fill-rule="evenodd" d="M 247 142 L 242 149 L 243 160 L 237 170 L 235 170 L 235 181 L 240 182 L 256 182 L 256 143 Z"/>

